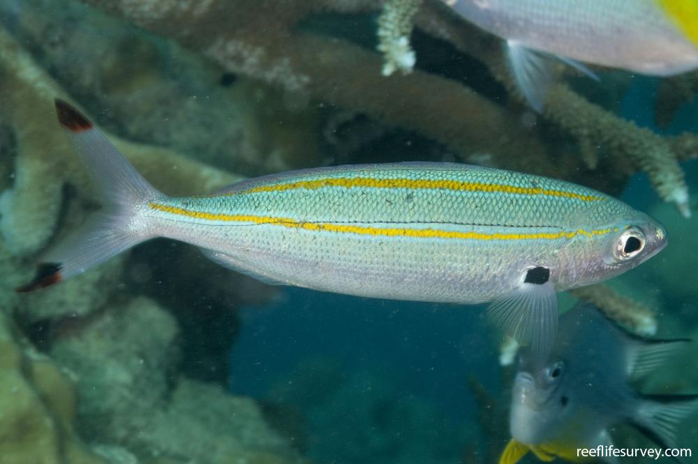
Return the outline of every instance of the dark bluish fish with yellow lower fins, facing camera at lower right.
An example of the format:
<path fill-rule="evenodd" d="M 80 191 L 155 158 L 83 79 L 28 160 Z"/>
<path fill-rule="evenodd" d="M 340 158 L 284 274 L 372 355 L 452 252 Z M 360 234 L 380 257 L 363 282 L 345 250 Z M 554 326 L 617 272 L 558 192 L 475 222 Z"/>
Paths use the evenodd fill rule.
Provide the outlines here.
<path fill-rule="evenodd" d="M 500 464 L 516 463 L 528 451 L 544 461 L 584 461 L 577 448 L 611 445 L 609 426 L 619 422 L 634 425 L 662 448 L 674 447 L 676 425 L 698 409 L 698 395 L 643 396 L 628 380 L 653 371 L 687 341 L 632 336 L 591 305 L 563 315 L 544 366 L 521 350 L 510 413 L 513 438 Z"/>

